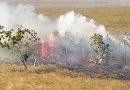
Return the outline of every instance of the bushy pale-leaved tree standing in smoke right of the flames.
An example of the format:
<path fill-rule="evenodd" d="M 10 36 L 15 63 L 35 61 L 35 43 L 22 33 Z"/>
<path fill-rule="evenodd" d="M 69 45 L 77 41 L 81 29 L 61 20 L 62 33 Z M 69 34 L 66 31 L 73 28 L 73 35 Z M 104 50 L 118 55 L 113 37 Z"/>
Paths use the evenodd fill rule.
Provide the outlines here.
<path fill-rule="evenodd" d="M 109 64 L 109 56 L 112 51 L 109 49 L 110 45 L 103 42 L 103 36 L 100 34 L 94 34 L 90 37 L 90 39 L 91 50 L 97 54 L 97 60 L 93 62 L 101 64 L 103 63 L 103 60 L 105 60 L 106 64 Z"/>

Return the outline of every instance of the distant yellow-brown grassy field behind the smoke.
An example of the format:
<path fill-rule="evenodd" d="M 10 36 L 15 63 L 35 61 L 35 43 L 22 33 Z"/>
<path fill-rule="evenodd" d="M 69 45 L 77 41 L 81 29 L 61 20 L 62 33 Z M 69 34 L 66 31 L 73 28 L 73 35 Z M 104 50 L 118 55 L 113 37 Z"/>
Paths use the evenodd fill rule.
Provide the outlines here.
<path fill-rule="evenodd" d="M 97 24 L 105 25 L 106 29 L 112 34 L 130 32 L 130 7 L 37 9 L 38 13 L 43 13 L 53 19 L 69 11 L 75 11 L 94 19 Z"/>

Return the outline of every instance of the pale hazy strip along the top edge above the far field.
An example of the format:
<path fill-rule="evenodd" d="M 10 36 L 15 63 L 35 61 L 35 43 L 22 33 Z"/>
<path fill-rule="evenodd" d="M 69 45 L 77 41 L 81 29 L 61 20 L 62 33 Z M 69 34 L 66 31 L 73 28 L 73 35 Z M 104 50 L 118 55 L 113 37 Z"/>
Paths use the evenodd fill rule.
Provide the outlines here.
<path fill-rule="evenodd" d="M 33 4 L 38 7 L 102 7 L 130 6 L 130 0 L 0 0 L 9 3 Z"/>

